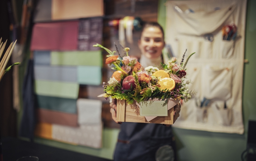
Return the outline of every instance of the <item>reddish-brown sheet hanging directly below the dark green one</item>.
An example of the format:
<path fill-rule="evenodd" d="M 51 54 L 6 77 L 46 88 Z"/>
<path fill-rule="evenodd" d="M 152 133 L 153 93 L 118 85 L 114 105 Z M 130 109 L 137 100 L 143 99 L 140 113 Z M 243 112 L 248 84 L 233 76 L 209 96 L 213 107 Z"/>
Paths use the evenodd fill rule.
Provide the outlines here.
<path fill-rule="evenodd" d="M 78 126 L 77 114 L 58 112 L 52 110 L 38 109 L 37 118 L 39 122 L 59 124 L 65 126 Z"/>

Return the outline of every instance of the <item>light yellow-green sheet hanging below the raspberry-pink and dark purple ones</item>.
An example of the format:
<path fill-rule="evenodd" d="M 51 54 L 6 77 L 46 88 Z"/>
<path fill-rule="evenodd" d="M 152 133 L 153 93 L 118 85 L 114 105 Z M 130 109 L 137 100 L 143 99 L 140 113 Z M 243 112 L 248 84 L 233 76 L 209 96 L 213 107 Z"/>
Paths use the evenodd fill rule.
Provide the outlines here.
<path fill-rule="evenodd" d="M 99 51 L 51 52 L 51 64 L 59 66 L 99 66 L 102 67 L 102 55 Z"/>

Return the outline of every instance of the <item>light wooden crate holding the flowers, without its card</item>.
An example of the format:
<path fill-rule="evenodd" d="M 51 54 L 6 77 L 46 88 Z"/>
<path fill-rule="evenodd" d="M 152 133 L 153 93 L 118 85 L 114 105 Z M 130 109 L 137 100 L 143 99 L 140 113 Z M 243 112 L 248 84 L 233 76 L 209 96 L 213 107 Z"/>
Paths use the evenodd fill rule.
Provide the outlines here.
<path fill-rule="evenodd" d="M 173 124 L 173 110 L 168 110 L 168 116 L 157 116 L 156 118 L 146 120 L 144 116 L 140 116 L 140 108 L 136 103 L 127 104 L 125 100 L 117 100 L 116 120 L 118 122 L 138 122 L 138 123 L 156 123 L 156 124 Z"/>

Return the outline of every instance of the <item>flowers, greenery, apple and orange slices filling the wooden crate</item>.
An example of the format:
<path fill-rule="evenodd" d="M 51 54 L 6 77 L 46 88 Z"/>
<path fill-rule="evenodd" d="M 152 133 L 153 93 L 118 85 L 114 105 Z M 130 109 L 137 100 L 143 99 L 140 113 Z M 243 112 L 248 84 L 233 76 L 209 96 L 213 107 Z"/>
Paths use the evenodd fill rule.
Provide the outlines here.
<path fill-rule="evenodd" d="M 121 56 L 117 45 L 116 50 L 118 55 L 114 55 L 116 51 L 111 51 L 100 44 L 93 45 L 105 49 L 109 55 L 106 58 L 106 64 L 113 64 L 112 69 L 116 70 L 107 83 L 103 82 L 104 97 L 107 99 L 126 100 L 128 104 L 134 101 L 138 103 L 150 99 L 168 100 L 183 99 L 187 102 L 194 91 L 189 91 L 188 84 L 190 81 L 185 81 L 186 64 L 188 56 L 184 63 L 185 53 L 181 62 L 178 64 L 175 57 L 168 60 L 168 64 L 163 64 L 162 69 L 149 66 L 142 67 L 135 58 L 128 55 L 129 48 L 123 48 L 125 56 Z"/>

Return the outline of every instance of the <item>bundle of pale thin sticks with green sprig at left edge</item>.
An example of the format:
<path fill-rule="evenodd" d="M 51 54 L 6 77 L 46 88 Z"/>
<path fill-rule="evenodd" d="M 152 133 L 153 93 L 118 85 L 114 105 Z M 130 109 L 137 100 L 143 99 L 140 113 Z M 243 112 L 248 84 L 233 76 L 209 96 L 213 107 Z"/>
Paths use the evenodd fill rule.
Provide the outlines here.
<path fill-rule="evenodd" d="M 14 46 L 15 46 L 16 42 L 17 42 L 17 40 L 10 44 L 10 46 L 7 48 L 4 56 L 2 57 L 2 60 L 0 62 L 0 81 L 1 81 L 2 77 L 4 76 L 4 74 L 6 72 L 8 72 L 8 70 L 10 70 L 12 66 L 20 64 L 20 63 L 14 63 L 10 67 L 5 69 L 5 67 L 6 67 L 6 65 L 7 65 L 8 61 L 11 57 L 11 54 L 12 54 L 12 51 L 14 49 Z M 0 57 L 2 56 L 2 53 L 4 52 L 6 43 L 7 43 L 7 40 L 4 43 L 4 42 L 2 42 L 2 38 L 0 38 Z"/>

